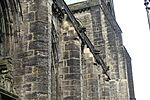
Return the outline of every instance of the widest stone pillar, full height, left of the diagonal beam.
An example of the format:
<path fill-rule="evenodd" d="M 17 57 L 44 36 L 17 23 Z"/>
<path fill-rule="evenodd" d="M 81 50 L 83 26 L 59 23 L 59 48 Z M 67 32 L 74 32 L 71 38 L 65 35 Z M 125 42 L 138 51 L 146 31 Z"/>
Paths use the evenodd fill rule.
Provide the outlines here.
<path fill-rule="evenodd" d="M 15 66 L 22 100 L 51 100 L 51 5 L 52 0 L 22 1 L 22 63 Z"/>

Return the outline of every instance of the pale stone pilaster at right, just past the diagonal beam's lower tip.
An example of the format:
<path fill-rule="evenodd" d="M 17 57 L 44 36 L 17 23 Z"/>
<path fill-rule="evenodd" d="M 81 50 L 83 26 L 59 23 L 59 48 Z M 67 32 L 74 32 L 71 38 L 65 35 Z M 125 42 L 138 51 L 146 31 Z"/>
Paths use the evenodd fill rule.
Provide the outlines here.
<path fill-rule="evenodd" d="M 108 94 L 105 96 L 107 100 L 119 100 L 118 99 L 118 85 L 119 79 L 119 68 L 118 68 L 118 52 L 116 49 L 116 40 L 114 30 L 111 28 L 106 16 L 101 12 L 102 16 L 102 33 L 105 40 L 105 51 L 106 51 L 106 63 L 110 67 L 109 75 L 111 77 L 110 82 L 107 82 L 105 91 Z M 105 94 L 106 95 L 106 94 Z M 104 100 L 105 100 L 104 99 Z"/>

